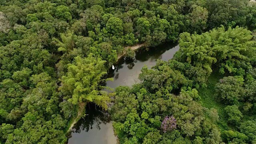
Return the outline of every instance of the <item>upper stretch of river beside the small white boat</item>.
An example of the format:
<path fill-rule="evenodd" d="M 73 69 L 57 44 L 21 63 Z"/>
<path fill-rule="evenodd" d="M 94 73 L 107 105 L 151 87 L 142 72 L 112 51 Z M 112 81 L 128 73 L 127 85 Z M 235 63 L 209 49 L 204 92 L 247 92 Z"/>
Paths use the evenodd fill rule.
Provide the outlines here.
<path fill-rule="evenodd" d="M 140 82 L 138 75 L 141 68 L 146 64 L 148 68 L 156 65 L 158 59 L 169 60 L 175 52 L 179 50 L 177 44 L 162 44 L 156 48 L 148 48 L 147 50 L 138 50 L 133 60 L 120 58 L 115 64 L 116 69 L 112 68 L 108 72 L 108 78 L 114 78 L 114 81 L 108 81 L 104 86 L 116 88 L 117 86 L 132 86 Z"/>

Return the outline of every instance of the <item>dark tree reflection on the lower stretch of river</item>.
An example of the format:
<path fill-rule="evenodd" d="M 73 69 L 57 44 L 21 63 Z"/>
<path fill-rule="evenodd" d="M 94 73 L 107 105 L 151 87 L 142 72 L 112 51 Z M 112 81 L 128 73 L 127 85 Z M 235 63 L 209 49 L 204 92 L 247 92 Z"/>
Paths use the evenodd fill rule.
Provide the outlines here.
<path fill-rule="evenodd" d="M 81 131 L 88 132 L 92 129 L 93 125 L 96 125 L 96 128 L 100 130 L 100 124 L 107 124 L 110 122 L 110 114 L 102 110 L 99 106 L 90 103 L 86 106 L 86 115 L 85 118 L 81 118 L 74 126 L 72 132 L 80 133 Z"/>

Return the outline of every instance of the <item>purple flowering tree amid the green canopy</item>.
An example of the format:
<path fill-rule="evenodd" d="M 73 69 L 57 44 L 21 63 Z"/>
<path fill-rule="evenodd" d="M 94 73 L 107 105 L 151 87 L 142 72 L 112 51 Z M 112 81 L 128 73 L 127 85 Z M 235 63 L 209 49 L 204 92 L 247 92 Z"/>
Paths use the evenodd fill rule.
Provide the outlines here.
<path fill-rule="evenodd" d="M 176 119 L 173 116 L 166 116 L 161 124 L 163 132 L 168 132 L 176 128 Z"/>

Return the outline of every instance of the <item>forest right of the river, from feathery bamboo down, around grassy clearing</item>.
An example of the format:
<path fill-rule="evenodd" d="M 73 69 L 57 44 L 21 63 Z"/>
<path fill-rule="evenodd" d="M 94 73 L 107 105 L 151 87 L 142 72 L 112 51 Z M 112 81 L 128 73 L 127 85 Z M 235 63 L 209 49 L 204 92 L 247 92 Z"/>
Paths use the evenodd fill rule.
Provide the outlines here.
<path fill-rule="evenodd" d="M 110 112 L 120 143 L 254 144 L 256 42 L 251 32 L 222 26 L 179 38 L 172 60 L 142 68 L 142 82 L 132 88 L 116 88 Z M 211 96 L 226 106 L 224 129 L 218 127 L 218 111 L 203 107 L 198 93 L 213 69 L 223 76 Z"/>

